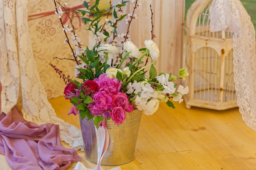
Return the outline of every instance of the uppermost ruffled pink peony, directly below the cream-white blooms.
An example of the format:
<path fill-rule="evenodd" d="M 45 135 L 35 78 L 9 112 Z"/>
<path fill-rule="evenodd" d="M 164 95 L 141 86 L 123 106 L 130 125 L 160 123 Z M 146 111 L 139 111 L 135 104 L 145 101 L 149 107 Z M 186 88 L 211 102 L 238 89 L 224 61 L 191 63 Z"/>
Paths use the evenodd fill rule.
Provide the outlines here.
<path fill-rule="evenodd" d="M 122 85 L 122 82 L 119 82 L 118 79 L 108 78 L 107 74 L 101 74 L 99 78 L 94 79 L 94 82 L 99 85 L 99 91 L 106 91 L 110 96 L 117 94 Z"/>

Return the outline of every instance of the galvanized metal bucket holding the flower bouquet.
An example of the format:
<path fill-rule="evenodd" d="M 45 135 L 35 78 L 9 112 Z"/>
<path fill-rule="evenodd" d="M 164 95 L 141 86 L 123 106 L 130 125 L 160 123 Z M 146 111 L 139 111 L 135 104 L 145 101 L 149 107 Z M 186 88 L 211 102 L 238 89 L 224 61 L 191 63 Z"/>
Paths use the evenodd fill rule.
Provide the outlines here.
<path fill-rule="evenodd" d="M 124 123 L 117 124 L 112 120 L 107 121 L 109 145 L 103 155 L 101 165 L 121 165 L 132 161 L 134 158 L 135 146 L 137 142 L 139 124 L 142 111 L 136 109 L 131 113 L 126 112 Z M 87 121 L 80 117 L 81 132 L 85 148 L 85 158 L 97 163 L 97 138 L 93 120 Z"/>

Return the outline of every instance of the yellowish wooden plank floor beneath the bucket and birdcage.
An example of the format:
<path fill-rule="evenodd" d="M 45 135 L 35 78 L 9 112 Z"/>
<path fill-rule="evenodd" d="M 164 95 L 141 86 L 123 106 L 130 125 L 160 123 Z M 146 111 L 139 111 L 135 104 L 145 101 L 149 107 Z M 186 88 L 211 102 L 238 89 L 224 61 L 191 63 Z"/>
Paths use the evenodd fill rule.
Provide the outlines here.
<path fill-rule="evenodd" d="M 78 115 L 67 115 L 70 104 L 64 97 L 49 101 L 58 117 L 80 126 Z M 122 170 L 255 169 L 256 132 L 245 125 L 238 108 L 217 111 L 186 109 L 184 103 L 175 106 L 160 104 L 154 115 L 142 115 L 135 158 L 121 165 Z M 87 168 L 95 167 L 84 158 L 84 152 L 78 153 Z M 9 170 L 5 157 L 0 156 L 0 166 Z"/>

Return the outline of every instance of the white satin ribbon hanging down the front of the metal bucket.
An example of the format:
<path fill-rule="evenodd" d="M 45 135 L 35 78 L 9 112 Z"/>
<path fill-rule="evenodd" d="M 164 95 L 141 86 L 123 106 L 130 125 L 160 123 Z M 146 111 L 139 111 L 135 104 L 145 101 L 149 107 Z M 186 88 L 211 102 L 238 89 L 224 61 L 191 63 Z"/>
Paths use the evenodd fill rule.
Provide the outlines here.
<path fill-rule="evenodd" d="M 74 168 L 74 170 L 103 170 L 101 168 L 101 159 L 108 149 L 109 144 L 109 135 L 108 129 L 106 127 L 99 127 L 98 129 L 95 127 L 96 137 L 97 137 L 97 146 L 98 146 L 98 163 L 93 169 L 86 168 L 81 162 L 78 162 Z M 119 166 L 110 168 L 108 170 L 121 170 Z"/>

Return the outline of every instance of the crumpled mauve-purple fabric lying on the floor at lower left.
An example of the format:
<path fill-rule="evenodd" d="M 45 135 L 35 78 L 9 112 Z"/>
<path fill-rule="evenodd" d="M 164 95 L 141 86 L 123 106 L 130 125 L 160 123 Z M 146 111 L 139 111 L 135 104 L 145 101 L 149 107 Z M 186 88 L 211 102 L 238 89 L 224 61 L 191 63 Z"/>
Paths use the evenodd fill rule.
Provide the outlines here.
<path fill-rule="evenodd" d="M 81 157 L 61 146 L 59 133 L 58 125 L 25 121 L 13 107 L 0 115 L 0 153 L 14 170 L 65 170 Z"/>

